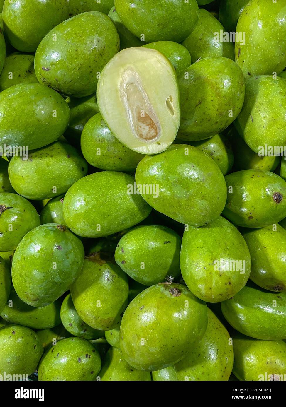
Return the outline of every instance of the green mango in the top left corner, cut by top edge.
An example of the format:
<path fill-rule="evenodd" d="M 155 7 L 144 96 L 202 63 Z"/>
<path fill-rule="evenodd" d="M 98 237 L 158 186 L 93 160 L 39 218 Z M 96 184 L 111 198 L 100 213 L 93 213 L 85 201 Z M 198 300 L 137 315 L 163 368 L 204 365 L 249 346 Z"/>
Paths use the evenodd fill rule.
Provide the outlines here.
<path fill-rule="evenodd" d="M 44 36 L 67 18 L 68 0 L 9 0 L 3 7 L 5 34 L 24 52 L 35 52 Z"/>

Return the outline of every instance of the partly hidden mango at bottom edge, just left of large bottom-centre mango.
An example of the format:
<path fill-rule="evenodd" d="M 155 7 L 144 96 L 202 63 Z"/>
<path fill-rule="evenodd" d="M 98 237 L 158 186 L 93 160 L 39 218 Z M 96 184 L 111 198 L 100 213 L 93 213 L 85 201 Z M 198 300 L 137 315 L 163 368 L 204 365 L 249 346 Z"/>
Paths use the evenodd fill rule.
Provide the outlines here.
<path fill-rule="evenodd" d="M 123 358 L 120 349 L 111 347 L 99 373 L 101 381 L 151 381 L 151 373 L 132 368 Z"/>

